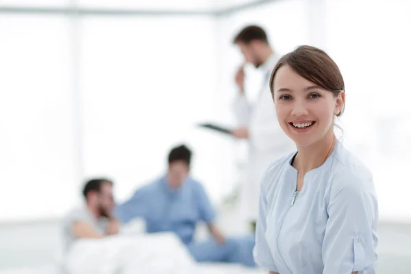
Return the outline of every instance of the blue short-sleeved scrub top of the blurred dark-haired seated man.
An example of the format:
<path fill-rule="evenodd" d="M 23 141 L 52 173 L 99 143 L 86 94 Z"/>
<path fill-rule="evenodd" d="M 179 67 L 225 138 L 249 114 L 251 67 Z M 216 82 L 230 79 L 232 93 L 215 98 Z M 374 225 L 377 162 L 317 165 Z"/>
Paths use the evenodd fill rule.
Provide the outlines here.
<path fill-rule="evenodd" d="M 187 177 L 179 188 L 171 188 L 166 177 L 160 177 L 118 206 L 116 216 L 123 222 L 143 218 L 148 233 L 174 232 L 188 244 L 197 222 L 212 223 L 215 214 L 199 182 Z"/>

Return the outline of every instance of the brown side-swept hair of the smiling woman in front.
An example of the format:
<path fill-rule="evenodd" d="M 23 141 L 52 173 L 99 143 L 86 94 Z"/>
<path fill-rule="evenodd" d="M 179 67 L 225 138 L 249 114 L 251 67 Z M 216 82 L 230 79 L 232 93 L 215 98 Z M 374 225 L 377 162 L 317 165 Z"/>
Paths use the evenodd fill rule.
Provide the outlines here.
<path fill-rule="evenodd" d="M 345 90 L 343 75 L 337 64 L 321 49 L 311 46 L 300 46 L 284 55 L 275 65 L 270 77 L 270 90 L 274 94 L 274 77 L 280 67 L 291 67 L 293 71 L 320 88 L 332 92 L 335 97 Z M 344 112 L 345 105 L 337 116 Z"/>

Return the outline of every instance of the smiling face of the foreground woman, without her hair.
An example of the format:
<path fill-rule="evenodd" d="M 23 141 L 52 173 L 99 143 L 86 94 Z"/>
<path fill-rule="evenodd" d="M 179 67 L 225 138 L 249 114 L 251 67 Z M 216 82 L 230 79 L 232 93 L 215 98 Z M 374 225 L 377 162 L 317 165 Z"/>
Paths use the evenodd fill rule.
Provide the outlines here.
<path fill-rule="evenodd" d="M 333 130 L 334 115 L 345 102 L 344 92 L 337 97 L 293 71 L 280 67 L 274 78 L 273 99 L 279 125 L 297 146 L 309 146 Z"/>

